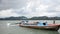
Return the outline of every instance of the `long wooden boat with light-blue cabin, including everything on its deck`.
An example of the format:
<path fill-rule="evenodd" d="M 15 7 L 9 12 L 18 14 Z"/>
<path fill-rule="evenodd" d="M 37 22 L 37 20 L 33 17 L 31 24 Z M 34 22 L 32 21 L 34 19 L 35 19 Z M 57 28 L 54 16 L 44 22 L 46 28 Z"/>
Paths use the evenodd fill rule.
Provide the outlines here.
<path fill-rule="evenodd" d="M 19 23 L 18 26 L 34 28 L 34 29 L 44 29 L 44 30 L 54 30 L 58 31 L 60 24 L 47 24 L 47 22 L 34 22 L 34 24 L 28 24 L 25 22 Z"/>

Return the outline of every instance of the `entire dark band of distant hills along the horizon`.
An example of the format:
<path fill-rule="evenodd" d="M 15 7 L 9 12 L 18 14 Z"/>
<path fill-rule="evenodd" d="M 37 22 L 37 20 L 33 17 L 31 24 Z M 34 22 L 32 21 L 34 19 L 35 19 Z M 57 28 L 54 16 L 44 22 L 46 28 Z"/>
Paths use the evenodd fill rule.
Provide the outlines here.
<path fill-rule="evenodd" d="M 20 17 L 0 18 L 0 20 L 60 20 L 60 17 L 41 16 L 41 17 L 27 18 L 25 16 L 20 16 Z"/>

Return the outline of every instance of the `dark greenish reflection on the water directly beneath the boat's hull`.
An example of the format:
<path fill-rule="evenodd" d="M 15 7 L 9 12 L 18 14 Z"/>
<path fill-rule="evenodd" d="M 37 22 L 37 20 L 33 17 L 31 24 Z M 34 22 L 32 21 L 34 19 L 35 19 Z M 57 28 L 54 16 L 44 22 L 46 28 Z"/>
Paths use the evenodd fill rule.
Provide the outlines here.
<path fill-rule="evenodd" d="M 21 27 L 20 27 L 21 29 Z M 22 28 L 22 31 L 25 31 L 24 33 L 27 34 L 60 34 L 58 31 L 49 31 L 49 30 L 38 30 L 38 29 L 28 29 L 28 28 Z"/>

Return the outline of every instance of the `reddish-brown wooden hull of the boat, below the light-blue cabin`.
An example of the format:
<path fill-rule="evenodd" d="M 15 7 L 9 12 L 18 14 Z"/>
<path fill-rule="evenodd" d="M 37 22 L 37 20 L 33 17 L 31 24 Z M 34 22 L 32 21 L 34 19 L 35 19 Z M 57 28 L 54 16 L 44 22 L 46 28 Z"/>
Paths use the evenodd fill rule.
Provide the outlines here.
<path fill-rule="evenodd" d="M 60 24 L 47 24 L 43 26 L 38 26 L 38 25 L 25 25 L 25 24 L 18 24 L 21 27 L 27 27 L 27 28 L 34 28 L 34 29 L 43 29 L 43 30 L 54 30 L 58 31 Z"/>

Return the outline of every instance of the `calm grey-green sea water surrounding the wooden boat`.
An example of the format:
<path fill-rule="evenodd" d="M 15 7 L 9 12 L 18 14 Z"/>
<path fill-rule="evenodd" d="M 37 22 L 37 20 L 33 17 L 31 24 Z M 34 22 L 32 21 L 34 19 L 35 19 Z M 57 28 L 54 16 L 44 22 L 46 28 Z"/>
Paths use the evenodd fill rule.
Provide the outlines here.
<path fill-rule="evenodd" d="M 53 23 L 53 20 L 29 20 L 32 21 L 47 21 Z M 19 23 L 20 20 L 0 20 L 0 34 L 60 34 L 58 31 L 39 30 L 16 26 L 14 23 Z M 60 20 L 56 20 L 56 24 L 60 24 Z"/>

